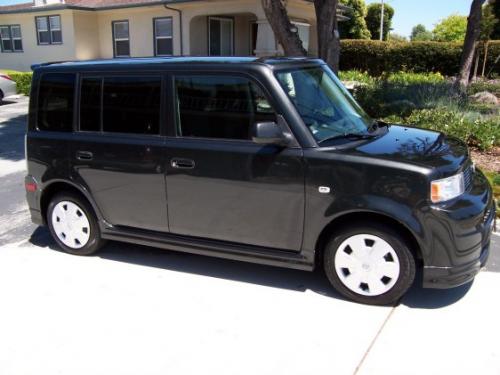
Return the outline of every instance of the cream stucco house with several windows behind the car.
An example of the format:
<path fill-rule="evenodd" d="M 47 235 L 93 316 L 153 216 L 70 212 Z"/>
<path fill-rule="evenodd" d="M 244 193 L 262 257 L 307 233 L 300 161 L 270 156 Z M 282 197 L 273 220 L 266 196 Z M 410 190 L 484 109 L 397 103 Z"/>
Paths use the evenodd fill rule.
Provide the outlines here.
<path fill-rule="evenodd" d="M 287 9 L 314 55 L 313 4 L 288 0 Z M 0 6 L 0 37 L 0 68 L 21 71 L 47 61 L 280 53 L 261 0 L 35 0 Z"/>

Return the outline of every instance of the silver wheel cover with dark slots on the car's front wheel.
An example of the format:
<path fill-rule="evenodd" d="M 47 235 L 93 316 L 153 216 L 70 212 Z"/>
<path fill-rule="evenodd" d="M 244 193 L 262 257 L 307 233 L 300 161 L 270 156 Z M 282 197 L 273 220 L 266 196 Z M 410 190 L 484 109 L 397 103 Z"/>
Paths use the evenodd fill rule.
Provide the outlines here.
<path fill-rule="evenodd" d="M 340 244 L 335 254 L 335 272 L 352 292 L 379 296 L 396 284 L 399 258 L 384 239 L 371 234 L 356 234 Z"/>

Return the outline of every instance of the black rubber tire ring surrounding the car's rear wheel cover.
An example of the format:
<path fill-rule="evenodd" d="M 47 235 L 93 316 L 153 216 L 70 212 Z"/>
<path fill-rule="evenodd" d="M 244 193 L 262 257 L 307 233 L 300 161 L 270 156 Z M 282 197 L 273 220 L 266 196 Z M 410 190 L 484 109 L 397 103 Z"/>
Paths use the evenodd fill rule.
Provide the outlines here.
<path fill-rule="evenodd" d="M 54 226 L 52 224 L 52 214 L 54 211 L 54 208 L 57 206 L 58 203 L 62 201 L 69 201 L 74 203 L 75 205 L 78 206 L 78 208 L 85 214 L 85 216 L 88 219 L 88 222 L 90 224 L 90 237 L 88 239 L 88 242 L 81 248 L 75 249 L 71 248 L 69 246 L 66 246 L 57 236 Z M 50 229 L 50 233 L 52 234 L 52 237 L 54 240 L 57 242 L 57 244 L 61 247 L 61 249 L 69 254 L 74 254 L 74 255 L 92 255 L 95 254 L 104 244 L 106 243 L 105 240 L 101 238 L 101 230 L 99 228 L 99 225 L 97 223 L 96 215 L 94 213 L 94 210 L 92 209 L 92 206 L 87 202 L 86 199 L 83 199 L 81 196 L 78 194 L 72 193 L 72 192 L 61 192 L 56 194 L 50 201 L 48 209 L 47 209 L 47 224 Z"/>

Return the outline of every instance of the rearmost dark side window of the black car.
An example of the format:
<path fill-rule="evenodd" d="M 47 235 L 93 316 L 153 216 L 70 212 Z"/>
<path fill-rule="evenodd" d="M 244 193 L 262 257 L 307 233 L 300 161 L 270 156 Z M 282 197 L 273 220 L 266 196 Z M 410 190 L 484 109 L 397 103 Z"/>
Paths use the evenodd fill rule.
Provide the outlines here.
<path fill-rule="evenodd" d="M 75 101 L 75 74 L 47 73 L 38 90 L 37 128 L 44 131 L 71 132 Z"/>

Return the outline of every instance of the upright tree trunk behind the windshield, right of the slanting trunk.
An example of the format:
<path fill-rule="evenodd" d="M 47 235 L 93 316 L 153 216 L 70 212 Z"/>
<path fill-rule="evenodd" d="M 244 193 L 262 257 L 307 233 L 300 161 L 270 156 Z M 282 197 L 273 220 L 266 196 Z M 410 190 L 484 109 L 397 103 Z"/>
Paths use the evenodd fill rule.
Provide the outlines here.
<path fill-rule="evenodd" d="M 335 73 L 339 70 L 340 58 L 337 4 L 338 0 L 314 0 L 318 28 L 318 55 Z"/>

